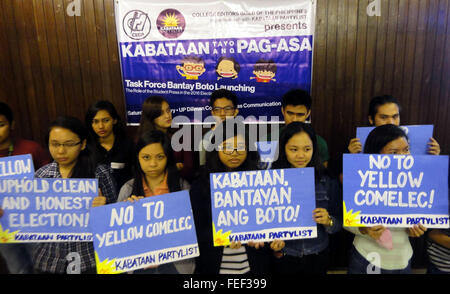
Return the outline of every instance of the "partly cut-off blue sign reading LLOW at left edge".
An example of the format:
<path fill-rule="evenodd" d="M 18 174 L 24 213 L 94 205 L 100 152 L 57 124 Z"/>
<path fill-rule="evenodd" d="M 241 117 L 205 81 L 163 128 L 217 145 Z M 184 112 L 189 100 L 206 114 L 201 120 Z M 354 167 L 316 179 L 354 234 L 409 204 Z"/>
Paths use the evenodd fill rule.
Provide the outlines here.
<path fill-rule="evenodd" d="M 0 179 L 34 178 L 34 165 L 31 154 L 0 158 Z"/>

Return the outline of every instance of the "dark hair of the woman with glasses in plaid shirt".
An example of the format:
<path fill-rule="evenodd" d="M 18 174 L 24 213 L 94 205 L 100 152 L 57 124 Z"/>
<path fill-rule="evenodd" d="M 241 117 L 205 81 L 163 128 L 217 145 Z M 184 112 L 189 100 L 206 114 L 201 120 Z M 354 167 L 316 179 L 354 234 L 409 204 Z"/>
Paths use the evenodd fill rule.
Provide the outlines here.
<path fill-rule="evenodd" d="M 60 127 L 67 129 L 72 133 L 76 134 L 80 138 L 81 144 L 83 141 L 88 139 L 88 131 L 78 118 L 71 116 L 60 116 L 50 123 L 48 128 L 46 142 L 47 146 L 49 144 L 50 131 L 55 128 Z M 77 158 L 77 163 L 72 170 L 71 178 L 95 178 L 95 160 L 92 158 L 92 154 L 89 148 L 81 150 Z"/>

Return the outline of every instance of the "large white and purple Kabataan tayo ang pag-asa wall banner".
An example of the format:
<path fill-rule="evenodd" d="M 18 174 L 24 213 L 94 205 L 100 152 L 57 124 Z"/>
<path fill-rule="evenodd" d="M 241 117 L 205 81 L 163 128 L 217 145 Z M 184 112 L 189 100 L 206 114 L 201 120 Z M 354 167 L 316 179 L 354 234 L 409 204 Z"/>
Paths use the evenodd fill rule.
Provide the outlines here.
<path fill-rule="evenodd" d="M 174 116 L 203 122 L 212 91 L 238 96 L 239 114 L 281 117 L 281 96 L 311 89 L 316 1 L 118 0 L 116 27 L 127 122 L 165 97 Z M 196 112 L 196 113 L 195 113 Z"/>

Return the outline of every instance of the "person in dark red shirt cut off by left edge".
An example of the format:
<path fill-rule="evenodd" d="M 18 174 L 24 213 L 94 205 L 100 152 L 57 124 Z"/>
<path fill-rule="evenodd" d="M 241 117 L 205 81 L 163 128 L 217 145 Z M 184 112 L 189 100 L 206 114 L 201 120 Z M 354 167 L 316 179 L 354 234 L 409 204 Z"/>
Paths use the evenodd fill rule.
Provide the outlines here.
<path fill-rule="evenodd" d="M 31 154 L 35 170 L 50 163 L 49 154 L 36 142 L 14 138 L 14 117 L 11 108 L 0 102 L 0 157 Z M 1 206 L 1 203 L 0 203 Z M 0 217 L 3 210 L 0 207 Z M 31 244 L 0 244 L 0 254 L 11 274 L 31 274 Z"/>

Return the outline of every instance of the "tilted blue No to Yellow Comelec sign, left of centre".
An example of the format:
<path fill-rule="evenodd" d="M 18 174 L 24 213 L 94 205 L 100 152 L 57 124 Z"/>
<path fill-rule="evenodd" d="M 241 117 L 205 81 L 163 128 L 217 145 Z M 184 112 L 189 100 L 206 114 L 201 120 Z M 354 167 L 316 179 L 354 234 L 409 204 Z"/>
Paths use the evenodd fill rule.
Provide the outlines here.
<path fill-rule="evenodd" d="M 199 256 L 188 191 L 92 208 L 97 273 Z"/>

